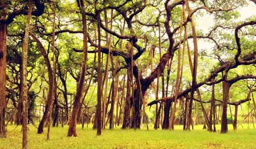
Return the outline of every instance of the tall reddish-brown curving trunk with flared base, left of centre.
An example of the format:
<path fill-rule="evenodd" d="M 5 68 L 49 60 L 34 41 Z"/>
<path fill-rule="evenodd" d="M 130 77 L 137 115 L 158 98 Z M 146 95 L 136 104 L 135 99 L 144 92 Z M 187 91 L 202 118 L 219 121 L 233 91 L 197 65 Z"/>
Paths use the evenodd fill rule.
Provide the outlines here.
<path fill-rule="evenodd" d="M 73 104 L 73 110 L 70 117 L 69 122 L 69 130 L 68 130 L 68 136 L 74 136 L 76 137 L 76 123 L 77 123 L 77 114 L 80 107 L 80 101 L 84 89 L 84 80 L 85 80 L 85 73 L 87 69 L 87 25 L 86 25 L 86 14 L 85 14 L 85 3 L 84 0 L 79 1 L 81 4 L 81 13 L 82 13 L 82 22 L 83 22 L 83 60 L 82 60 L 82 66 L 80 71 L 80 78 L 77 86 L 76 96 L 74 98 L 74 104 Z"/>

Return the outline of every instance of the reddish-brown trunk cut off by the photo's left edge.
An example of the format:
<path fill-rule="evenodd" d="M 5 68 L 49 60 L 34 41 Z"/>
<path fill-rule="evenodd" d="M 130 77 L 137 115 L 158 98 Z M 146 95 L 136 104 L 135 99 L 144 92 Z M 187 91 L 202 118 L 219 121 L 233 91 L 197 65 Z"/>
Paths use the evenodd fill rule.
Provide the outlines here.
<path fill-rule="evenodd" d="M 5 131 L 5 72 L 6 72 L 6 24 L 0 24 L 0 138 L 6 137 Z"/>

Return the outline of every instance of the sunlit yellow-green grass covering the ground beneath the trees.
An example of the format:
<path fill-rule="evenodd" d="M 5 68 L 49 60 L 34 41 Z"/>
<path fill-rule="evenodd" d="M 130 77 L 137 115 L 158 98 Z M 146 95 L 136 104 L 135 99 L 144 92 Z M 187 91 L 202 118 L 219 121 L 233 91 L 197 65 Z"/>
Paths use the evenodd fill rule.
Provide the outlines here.
<path fill-rule="evenodd" d="M 247 129 L 246 125 L 232 130 L 229 125 L 227 134 L 218 132 L 211 133 L 202 130 L 202 125 L 196 126 L 194 130 L 183 131 L 182 126 L 175 126 L 175 130 L 114 130 L 106 129 L 102 136 L 96 136 L 96 130 L 91 126 L 82 130 L 77 126 L 78 137 L 67 137 L 68 126 L 64 128 L 51 128 L 50 140 L 46 141 L 44 134 L 37 134 L 36 128 L 29 126 L 28 148 L 29 149 L 202 149 L 202 148 L 256 148 L 256 130 Z M 253 128 L 253 126 L 250 126 Z M 21 126 L 13 130 L 15 126 L 8 126 L 8 137 L 0 138 L 0 149 L 21 149 L 22 132 Z"/>

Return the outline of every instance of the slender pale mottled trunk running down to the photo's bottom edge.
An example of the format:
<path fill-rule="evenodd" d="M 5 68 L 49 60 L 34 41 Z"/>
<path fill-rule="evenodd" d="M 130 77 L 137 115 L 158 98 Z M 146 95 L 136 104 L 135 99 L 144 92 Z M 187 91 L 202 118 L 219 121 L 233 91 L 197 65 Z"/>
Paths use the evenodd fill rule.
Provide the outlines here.
<path fill-rule="evenodd" d="M 29 10 L 27 15 L 27 24 L 25 28 L 25 36 L 23 41 L 22 48 L 22 115 L 23 115 L 23 139 L 22 139 L 22 148 L 28 148 L 28 83 L 27 83 L 27 65 L 28 65 L 28 36 L 30 28 L 30 17 L 32 13 L 32 0 L 29 0 Z"/>

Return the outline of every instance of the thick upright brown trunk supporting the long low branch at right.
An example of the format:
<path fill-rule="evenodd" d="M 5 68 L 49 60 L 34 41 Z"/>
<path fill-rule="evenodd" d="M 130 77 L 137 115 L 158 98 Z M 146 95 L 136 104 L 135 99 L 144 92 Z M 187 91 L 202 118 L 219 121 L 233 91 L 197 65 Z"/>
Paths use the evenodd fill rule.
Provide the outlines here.
<path fill-rule="evenodd" d="M 228 131 L 228 120 L 227 120 L 227 103 L 229 100 L 229 89 L 231 84 L 223 81 L 223 102 L 222 102 L 222 118 L 221 118 L 221 133 Z"/>

